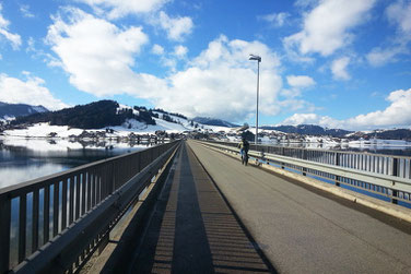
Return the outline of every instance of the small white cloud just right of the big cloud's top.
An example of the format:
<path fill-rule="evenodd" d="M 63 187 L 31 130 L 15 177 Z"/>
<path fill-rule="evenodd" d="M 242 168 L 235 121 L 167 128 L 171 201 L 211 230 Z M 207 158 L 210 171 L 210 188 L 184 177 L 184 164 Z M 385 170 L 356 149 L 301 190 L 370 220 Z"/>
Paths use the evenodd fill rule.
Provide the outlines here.
<path fill-rule="evenodd" d="M 164 11 L 161 11 L 158 17 L 154 20 L 172 40 L 183 40 L 185 36 L 192 32 L 193 23 L 188 16 L 169 17 Z"/>

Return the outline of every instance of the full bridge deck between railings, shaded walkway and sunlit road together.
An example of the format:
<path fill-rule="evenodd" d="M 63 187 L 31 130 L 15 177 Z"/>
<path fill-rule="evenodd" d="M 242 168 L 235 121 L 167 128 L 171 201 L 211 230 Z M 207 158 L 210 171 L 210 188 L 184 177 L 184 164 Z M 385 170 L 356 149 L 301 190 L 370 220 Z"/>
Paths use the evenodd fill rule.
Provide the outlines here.
<path fill-rule="evenodd" d="M 192 141 L 145 231 L 129 273 L 411 273 L 410 224 Z"/>

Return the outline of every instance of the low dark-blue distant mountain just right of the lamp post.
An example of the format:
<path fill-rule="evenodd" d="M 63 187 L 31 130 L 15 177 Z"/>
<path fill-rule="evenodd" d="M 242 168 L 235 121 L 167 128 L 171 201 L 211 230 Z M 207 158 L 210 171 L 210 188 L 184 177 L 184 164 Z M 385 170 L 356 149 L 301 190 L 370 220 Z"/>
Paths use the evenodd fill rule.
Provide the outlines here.
<path fill-rule="evenodd" d="M 277 126 L 269 127 L 263 126 L 261 129 L 265 130 L 277 130 L 285 133 L 297 133 L 306 135 L 331 135 L 331 136 L 344 136 L 352 131 L 341 130 L 341 129 L 324 129 L 322 127 L 316 124 L 298 124 L 298 126 Z"/>

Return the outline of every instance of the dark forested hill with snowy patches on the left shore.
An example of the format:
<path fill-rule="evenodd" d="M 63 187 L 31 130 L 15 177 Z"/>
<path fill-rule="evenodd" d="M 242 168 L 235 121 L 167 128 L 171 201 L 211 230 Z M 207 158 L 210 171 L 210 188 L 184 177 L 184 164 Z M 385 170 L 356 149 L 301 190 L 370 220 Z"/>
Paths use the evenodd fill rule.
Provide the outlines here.
<path fill-rule="evenodd" d="M 120 126 L 127 119 L 155 124 L 153 114 L 143 107 L 121 108 L 117 102 L 99 100 L 58 111 L 37 112 L 17 117 L 11 124 L 49 122 L 50 126 L 69 126 L 78 129 L 102 129 Z"/>

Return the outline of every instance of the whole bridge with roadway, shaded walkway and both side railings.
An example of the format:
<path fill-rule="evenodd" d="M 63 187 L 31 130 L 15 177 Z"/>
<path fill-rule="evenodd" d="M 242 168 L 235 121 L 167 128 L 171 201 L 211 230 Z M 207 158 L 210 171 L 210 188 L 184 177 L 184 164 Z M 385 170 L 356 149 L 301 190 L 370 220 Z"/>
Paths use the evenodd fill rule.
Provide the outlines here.
<path fill-rule="evenodd" d="M 1 189 L 0 273 L 411 273 L 410 157 L 249 154 L 175 141 Z"/>

